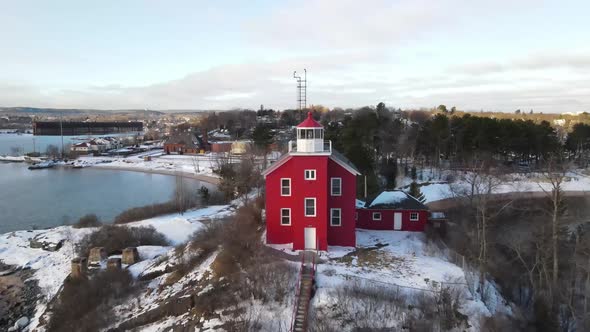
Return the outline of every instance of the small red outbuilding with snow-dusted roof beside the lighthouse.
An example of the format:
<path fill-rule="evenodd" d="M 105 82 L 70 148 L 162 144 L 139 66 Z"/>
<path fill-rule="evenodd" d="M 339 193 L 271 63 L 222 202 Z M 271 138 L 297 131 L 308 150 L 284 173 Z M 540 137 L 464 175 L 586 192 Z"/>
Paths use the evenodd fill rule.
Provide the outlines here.
<path fill-rule="evenodd" d="M 424 232 L 428 207 L 401 190 L 384 191 L 364 205 L 357 201 L 356 226 L 364 229 Z"/>

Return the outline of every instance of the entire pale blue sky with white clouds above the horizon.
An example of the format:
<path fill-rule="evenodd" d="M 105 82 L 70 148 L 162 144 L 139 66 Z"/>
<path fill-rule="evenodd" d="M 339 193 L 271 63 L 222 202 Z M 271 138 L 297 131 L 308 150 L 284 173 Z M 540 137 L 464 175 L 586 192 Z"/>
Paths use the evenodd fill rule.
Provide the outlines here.
<path fill-rule="evenodd" d="M 0 106 L 590 111 L 590 1 L 0 0 Z"/>

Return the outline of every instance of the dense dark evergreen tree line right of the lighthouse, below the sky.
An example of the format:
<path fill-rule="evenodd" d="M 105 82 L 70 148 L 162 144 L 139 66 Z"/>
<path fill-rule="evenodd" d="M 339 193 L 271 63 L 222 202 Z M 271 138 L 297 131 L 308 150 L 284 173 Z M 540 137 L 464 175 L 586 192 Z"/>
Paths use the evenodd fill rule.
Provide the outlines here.
<path fill-rule="evenodd" d="M 451 112 L 402 112 L 380 103 L 350 111 L 315 112 L 326 139 L 367 176 L 369 193 L 395 187 L 419 168 L 462 169 L 474 163 L 516 170 L 544 167 L 553 155 L 588 164 L 590 125 L 562 137 L 548 121 L 498 119 Z M 398 164 L 399 163 L 399 164 Z M 359 178 L 363 185 L 364 178 Z"/>

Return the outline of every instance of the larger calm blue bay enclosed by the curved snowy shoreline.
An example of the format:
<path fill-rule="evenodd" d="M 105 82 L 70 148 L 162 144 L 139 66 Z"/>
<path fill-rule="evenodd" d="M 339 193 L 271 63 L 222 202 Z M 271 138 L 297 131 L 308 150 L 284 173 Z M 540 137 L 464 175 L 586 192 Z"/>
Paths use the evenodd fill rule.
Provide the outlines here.
<path fill-rule="evenodd" d="M 28 170 L 24 163 L 0 163 L 0 234 L 74 223 L 94 213 L 111 222 L 124 210 L 171 199 L 172 176 L 101 169 Z M 205 182 L 185 179 L 194 190 Z"/>

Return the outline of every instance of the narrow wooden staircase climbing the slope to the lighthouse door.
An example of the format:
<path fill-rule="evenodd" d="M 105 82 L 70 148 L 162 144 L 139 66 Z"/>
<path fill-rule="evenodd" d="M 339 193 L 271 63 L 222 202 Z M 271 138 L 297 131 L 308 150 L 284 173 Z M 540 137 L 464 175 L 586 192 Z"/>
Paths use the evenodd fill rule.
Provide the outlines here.
<path fill-rule="evenodd" d="M 291 322 L 292 332 L 307 331 L 309 302 L 315 293 L 315 257 L 313 251 L 302 252 L 298 291 Z"/>

